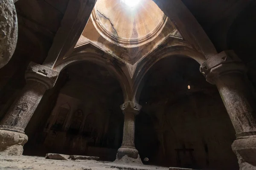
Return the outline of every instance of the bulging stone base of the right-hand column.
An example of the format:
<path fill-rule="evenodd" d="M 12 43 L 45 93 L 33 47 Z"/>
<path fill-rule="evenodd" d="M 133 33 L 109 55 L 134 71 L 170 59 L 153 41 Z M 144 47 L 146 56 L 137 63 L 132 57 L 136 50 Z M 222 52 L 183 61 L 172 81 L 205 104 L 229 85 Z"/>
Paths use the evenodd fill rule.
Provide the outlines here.
<path fill-rule="evenodd" d="M 232 149 L 238 158 L 240 170 L 256 170 L 256 136 L 236 139 Z"/>

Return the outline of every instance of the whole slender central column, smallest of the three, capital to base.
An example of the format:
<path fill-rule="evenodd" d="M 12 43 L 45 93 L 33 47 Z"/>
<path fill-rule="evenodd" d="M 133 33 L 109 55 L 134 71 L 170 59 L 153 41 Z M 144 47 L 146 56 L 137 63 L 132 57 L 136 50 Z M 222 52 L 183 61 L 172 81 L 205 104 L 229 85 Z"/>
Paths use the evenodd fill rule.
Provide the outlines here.
<path fill-rule="evenodd" d="M 126 163 L 142 164 L 139 152 L 134 144 L 135 116 L 140 112 L 141 106 L 135 102 L 129 101 L 122 104 L 120 108 L 125 115 L 125 122 L 122 146 L 117 151 L 116 161 L 121 160 L 125 156 L 124 161 L 127 161 Z"/>

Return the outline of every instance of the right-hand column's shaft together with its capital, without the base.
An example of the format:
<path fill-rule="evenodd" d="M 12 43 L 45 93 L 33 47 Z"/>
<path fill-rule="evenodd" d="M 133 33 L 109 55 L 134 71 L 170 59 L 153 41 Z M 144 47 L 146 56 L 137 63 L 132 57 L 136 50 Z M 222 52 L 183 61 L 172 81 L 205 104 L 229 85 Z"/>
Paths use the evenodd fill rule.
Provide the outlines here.
<path fill-rule="evenodd" d="M 217 86 L 237 137 L 256 131 L 252 108 L 254 101 L 247 84 L 246 70 L 233 51 L 224 51 L 201 65 L 201 72 L 207 81 Z"/>

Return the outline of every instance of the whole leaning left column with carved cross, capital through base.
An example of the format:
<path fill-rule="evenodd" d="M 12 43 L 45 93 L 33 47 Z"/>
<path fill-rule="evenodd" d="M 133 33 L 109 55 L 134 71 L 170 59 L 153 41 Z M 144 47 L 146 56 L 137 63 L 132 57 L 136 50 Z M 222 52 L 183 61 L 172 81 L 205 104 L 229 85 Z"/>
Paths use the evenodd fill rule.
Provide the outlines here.
<path fill-rule="evenodd" d="M 0 154 L 21 155 L 28 137 L 24 130 L 44 92 L 52 88 L 58 72 L 31 62 L 26 70 L 26 85 L 0 122 Z"/>

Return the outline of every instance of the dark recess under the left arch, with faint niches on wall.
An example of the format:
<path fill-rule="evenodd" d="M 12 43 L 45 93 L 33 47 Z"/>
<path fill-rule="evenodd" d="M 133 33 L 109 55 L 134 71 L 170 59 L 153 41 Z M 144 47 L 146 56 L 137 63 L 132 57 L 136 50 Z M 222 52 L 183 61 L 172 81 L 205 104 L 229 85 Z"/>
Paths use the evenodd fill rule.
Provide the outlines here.
<path fill-rule="evenodd" d="M 66 81 L 59 85 L 62 77 Z M 52 152 L 89 155 L 114 161 L 117 149 L 121 146 L 123 129 L 123 114 L 119 108 L 123 103 L 123 92 L 115 75 L 95 62 L 72 62 L 61 69 L 56 86 L 59 88 L 55 89 L 57 95 L 53 100 L 56 102 L 52 111 L 49 111 L 50 115 L 36 113 L 31 119 L 36 121 L 35 117 L 38 117 L 38 120 L 45 120 L 40 115 L 47 117 L 47 121 L 41 122 L 43 127 L 35 130 L 38 133 L 35 136 L 39 136 L 40 140 L 37 137 L 31 139 L 24 147 L 24 153 L 41 156 Z M 39 108 L 52 102 L 42 101 L 45 103 L 41 103 Z M 65 119 L 58 121 L 59 108 L 67 103 L 70 107 L 68 114 Z M 47 122 L 53 123 L 47 125 Z M 61 127 L 56 129 L 55 122 L 61 122 Z M 33 153 L 30 148 L 36 151 Z"/>

